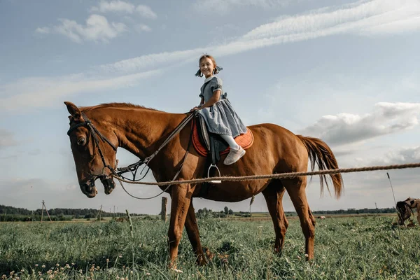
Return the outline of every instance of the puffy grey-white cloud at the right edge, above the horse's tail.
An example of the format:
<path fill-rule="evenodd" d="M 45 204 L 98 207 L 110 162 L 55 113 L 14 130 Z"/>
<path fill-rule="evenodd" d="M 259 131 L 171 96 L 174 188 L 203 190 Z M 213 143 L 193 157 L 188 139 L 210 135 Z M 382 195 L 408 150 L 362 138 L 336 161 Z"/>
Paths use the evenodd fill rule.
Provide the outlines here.
<path fill-rule="evenodd" d="M 300 133 L 314 135 L 330 144 L 349 144 L 412 129 L 419 125 L 419 112 L 420 103 L 381 102 L 364 116 L 351 113 L 323 116 Z"/>

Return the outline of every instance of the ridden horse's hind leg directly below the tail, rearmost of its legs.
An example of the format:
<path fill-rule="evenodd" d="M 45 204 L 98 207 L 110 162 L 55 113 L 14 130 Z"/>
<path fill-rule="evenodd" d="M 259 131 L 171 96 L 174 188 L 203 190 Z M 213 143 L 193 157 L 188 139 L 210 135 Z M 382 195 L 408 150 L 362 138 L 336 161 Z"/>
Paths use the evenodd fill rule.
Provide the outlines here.
<path fill-rule="evenodd" d="M 315 218 L 311 214 L 305 193 L 307 179 L 302 176 L 297 179 L 282 180 L 281 182 L 299 216 L 300 226 L 305 238 L 305 253 L 307 253 L 307 260 L 311 260 L 314 258 Z"/>

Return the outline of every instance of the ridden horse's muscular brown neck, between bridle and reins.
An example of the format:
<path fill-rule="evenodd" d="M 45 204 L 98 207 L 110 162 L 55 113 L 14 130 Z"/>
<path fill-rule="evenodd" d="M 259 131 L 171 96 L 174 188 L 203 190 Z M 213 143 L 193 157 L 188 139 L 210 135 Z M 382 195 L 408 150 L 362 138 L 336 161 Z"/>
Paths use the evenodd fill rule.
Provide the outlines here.
<path fill-rule="evenodd" d="M 110 109 L 114 132 L 118 137 L 118 146 L 125 148 L 139 158 L 146 158 L 158 149 L 158 145 L 168 132 L 181 122 L 181 114 L 166 113 L 151 109 Z"/>

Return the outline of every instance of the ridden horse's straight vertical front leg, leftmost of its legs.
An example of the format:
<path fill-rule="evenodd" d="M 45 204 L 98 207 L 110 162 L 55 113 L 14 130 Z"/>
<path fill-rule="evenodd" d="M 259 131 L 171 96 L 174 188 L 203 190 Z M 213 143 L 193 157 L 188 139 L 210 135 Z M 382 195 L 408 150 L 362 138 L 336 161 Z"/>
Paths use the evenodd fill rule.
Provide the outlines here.
<path fill-rule="evenodd" d="M 179 241 L 181 241 L 183 227 L 186 223 L 193 193 L 189 184 L 179 184 L 172 187 L 171 193 L 171 221 L 169 222 L 169 267 L 176 269 Z"/>

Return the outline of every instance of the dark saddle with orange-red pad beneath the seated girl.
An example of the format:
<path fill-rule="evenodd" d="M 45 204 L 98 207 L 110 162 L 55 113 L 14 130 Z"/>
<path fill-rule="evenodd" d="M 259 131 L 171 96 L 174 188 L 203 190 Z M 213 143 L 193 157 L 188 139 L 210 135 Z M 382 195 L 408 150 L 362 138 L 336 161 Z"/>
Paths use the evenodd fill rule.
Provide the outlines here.
<path fill-rule="evenodd" d="M 206 122 L 200 114 L 193 118 L 192 129 L 192 141 L 195 150 L 204 157 L 211 154 L 211 163 L 213 165 L 216 165 L 221 155 L 229 153 L 230 147 L 228 144 L 218 134 L 207 130 Z M 235 138 L 237 144 L 244 149 L 251 147 L 253 144 L 253 134 L 248 127 L 246 127 L 246 130 L 246 134 L 241 134 Z"/>

